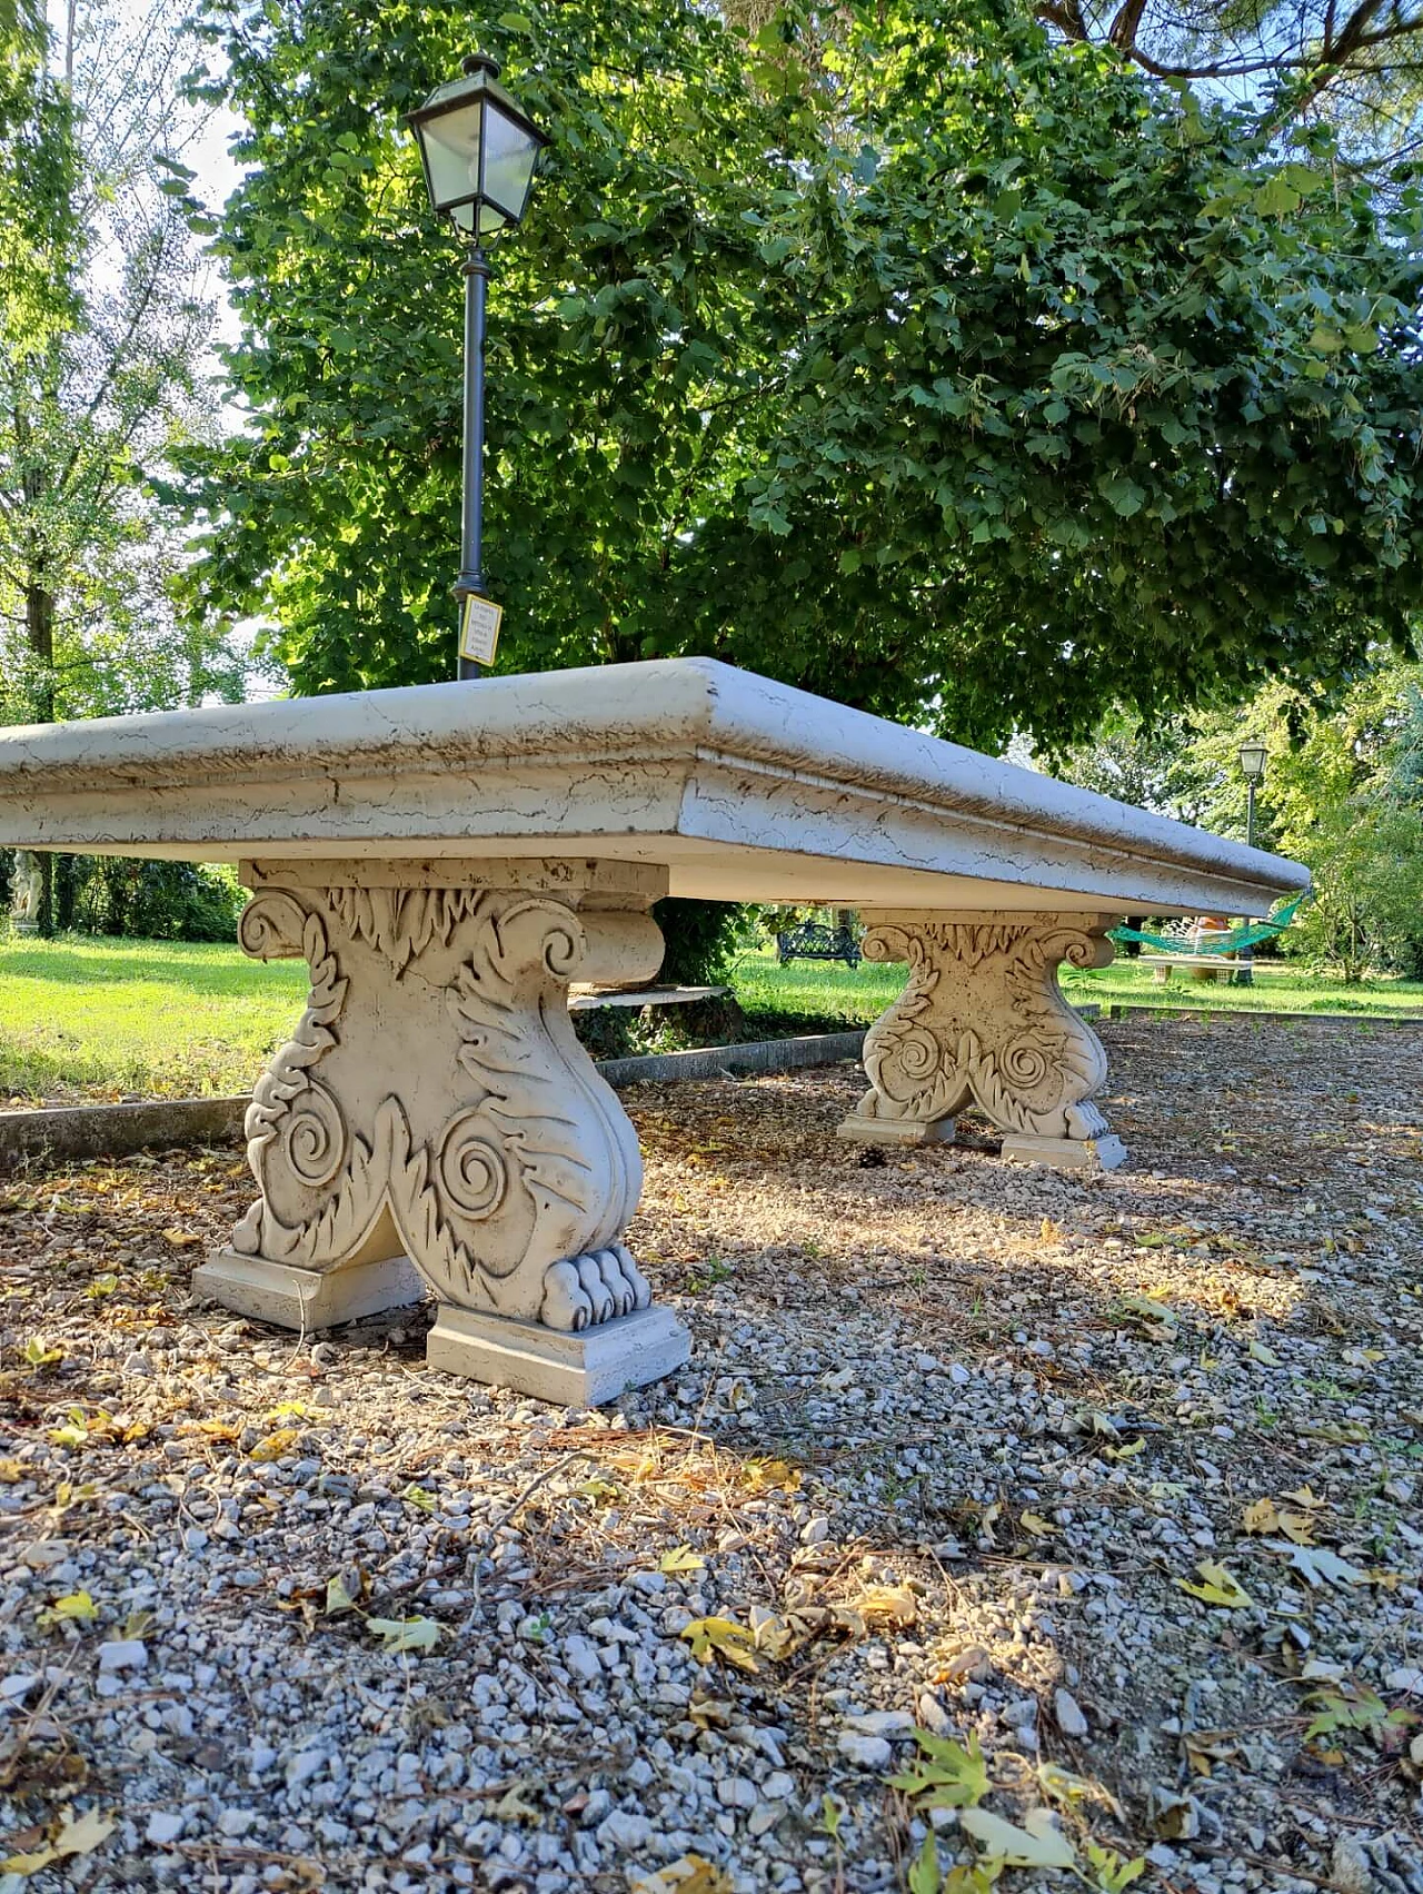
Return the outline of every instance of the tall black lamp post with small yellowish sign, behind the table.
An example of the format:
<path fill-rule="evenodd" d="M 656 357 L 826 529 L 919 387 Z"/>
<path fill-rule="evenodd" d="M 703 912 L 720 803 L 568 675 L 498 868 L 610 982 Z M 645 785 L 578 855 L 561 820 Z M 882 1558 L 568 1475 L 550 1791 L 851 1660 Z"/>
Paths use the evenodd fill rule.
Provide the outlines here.
<path fill-rule="evenodd" d="M 469 239 L 464 259 L 464 517 L 460 576 L 460 676 L 494 663 L 501 610 L 484 599 L 484 297 L 490 267 L 484 239 L 524 216 L 534 165 L 547 136 L 498 83 L 500 64 L 471 53 L 464 78 L 437 85 L 407 125 L 435 210 Z"/>

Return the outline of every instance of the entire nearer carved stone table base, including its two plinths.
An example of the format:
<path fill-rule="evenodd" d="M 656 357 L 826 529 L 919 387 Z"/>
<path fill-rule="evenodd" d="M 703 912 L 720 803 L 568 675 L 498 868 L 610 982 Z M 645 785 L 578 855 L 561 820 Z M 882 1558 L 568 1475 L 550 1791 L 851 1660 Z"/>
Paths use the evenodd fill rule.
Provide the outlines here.
<path fill-rule="evenodd" d="M 261 1195 L 195 1288 L 312 1330 L 433 1294 L 430 1360 L 589 1403 L 687 1331 L 623 1231 L 641 1157 L 568 1017 L 645 981 L 666 871 L 602 862 L 263 862 L 238 938 L 305 958 L 307 1011 L 246 1116 Z"/>

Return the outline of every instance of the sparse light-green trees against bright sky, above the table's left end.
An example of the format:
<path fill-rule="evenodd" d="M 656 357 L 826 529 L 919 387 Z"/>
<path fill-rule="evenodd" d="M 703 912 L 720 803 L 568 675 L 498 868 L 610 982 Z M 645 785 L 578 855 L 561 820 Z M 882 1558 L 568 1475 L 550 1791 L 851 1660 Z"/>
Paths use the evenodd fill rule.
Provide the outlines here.
<path fill-rule="evenodd" d="M 167 599 L 185 528 L 157 502 L 210 428 L 202 263 L 168 155 L 176 15 L 38 6 L 0 68 L 0 722 L 242 695 L 221 634 Z M 189 114 L 191 119 L 191 114 Z M 191 127 L 189 127 L 191 129 Z"/>

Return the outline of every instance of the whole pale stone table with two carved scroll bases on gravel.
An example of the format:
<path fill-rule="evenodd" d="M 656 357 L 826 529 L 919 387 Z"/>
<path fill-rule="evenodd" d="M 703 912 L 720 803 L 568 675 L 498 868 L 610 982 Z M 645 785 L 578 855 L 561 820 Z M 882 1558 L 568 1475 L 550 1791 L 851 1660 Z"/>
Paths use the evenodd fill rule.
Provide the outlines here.
<path fill-rule="evenodd" d="M 573 979 L 651 979 L 664 894 L 859 907 L 906 960 L 842 1135 L 1113 1165 L 1058 991 L 1128 913 L 1262 915 L 1292 862 L 706 659 L 0 733 L 0 847 L 238 862 L 307 1010 L 259 1195 L 195 1286 L 297 1330 L 439 1301 L 430 1360 L 568 1403 L 687 1358 L 623 1235 L 638 1140 Z"/>

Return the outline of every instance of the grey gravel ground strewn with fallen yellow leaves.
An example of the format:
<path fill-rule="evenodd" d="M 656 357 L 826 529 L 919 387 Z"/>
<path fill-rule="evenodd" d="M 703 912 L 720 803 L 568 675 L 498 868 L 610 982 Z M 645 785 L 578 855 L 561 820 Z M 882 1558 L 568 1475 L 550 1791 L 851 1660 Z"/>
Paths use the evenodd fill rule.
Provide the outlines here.
<path fill-rule="evenodd" d="M 1105 1178 L 630 1093 L 600 1413 L 195 1307 L 231 1152 L 0 1186 L 0 1890 L 1423 1894 L 1423 1032 L 1103 1038 Z"/>

